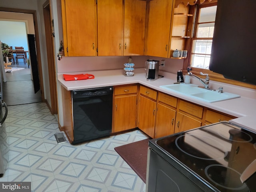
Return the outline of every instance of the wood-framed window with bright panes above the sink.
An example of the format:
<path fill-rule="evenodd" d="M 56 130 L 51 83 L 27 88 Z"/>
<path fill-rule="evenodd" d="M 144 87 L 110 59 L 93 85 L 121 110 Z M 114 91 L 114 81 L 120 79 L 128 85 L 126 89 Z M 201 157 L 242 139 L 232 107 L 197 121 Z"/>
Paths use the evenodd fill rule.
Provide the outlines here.
<path fill-rule="evenodd" d="M 209 69 L 217 5 L 198 5 L 192 38 L 190 65 Z"/>

